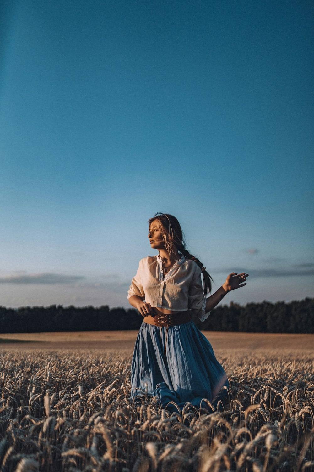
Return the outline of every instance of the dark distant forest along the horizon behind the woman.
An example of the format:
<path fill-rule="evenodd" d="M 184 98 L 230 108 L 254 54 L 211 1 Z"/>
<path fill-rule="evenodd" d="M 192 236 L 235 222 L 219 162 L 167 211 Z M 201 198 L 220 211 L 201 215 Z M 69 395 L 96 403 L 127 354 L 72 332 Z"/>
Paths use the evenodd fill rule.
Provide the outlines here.
<path fill-rule="evenodd" d="M 143 321 L 137 310 L 51 305 L 17 309 L 0 306 L 0 333 L 45 331 L 110 331 L 139 329 Z M 248 303 L 217 306 L 203 323 L 205 331 L 262 333 L 314 333 L 314 298 L 301 301 Z"/>

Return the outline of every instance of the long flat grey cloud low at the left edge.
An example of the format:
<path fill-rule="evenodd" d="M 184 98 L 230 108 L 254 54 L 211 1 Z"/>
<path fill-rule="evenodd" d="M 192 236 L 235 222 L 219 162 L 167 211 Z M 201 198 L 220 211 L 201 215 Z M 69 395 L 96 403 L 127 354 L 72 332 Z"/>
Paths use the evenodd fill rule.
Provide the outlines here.
<path fill-rule="evenodd" d="M 85 280 L 85 277 L 78 275 L 63 275 L 50 272 L 38 274 L 27 274 L 23 271 L 0 276 L 0 284 L 73 284 Z"/>

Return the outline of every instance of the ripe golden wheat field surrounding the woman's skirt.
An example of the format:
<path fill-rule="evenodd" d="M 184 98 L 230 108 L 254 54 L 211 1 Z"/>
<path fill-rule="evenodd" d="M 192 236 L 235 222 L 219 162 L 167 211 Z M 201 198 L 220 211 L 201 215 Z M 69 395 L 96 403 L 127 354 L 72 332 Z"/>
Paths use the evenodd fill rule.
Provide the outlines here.
<path fill-rule="evenodd" d="M 0 350 L 0 472 L 314 471 L 309 349 L 218 349 L 209 413 L 130 396 L 131 351 Z"/>

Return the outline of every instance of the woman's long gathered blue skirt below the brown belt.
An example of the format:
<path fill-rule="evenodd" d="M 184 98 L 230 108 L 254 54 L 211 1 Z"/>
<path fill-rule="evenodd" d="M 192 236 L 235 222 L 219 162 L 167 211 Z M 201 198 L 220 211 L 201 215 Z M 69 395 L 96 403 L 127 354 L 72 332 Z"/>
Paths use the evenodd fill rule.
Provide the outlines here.
<path fill-rule="evenodd" d="M 131 397 L 157 396 L 171 411 L 176 410 L 169 402 L 180 410 L 186 403 L 206 408 L 204 399 L 212 402 L 223 387 L 229 388 L 222 365 L 193 321 L 168 328 L 164 355 L 166 331 L 143 321 L 132 357 Z"/>

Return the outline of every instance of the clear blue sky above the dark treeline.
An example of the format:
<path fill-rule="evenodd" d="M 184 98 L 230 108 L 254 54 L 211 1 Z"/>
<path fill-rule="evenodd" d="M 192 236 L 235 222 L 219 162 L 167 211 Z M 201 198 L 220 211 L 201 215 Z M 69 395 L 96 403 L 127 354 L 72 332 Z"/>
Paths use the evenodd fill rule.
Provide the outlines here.
<path fill-rule="evenodd" d="M 0 304 L 127 307 L 157 211 L 225 303 L 314 296 L 313 3 L 1 8 Z"/>

